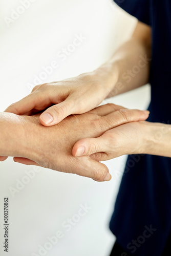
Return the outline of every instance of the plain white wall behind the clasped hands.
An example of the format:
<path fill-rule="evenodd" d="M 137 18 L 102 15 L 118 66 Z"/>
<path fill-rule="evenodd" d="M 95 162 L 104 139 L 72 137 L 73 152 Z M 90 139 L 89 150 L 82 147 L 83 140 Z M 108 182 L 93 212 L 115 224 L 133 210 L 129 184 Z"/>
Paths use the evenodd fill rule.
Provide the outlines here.
<path fill-rule="evenodd" d="M 91 71 L 129 38 L 136 25 L 136 19 L 109 0 L 36 0 L 8 27 L 5 17 L 11 16 L 12 9 L 22 11 L 20 2 L 22 0 L 0 1 L 1 112 L 30 93 L 29 84 L 34 83 L 35 76 L 41 76 L 42 67 L 49 66 L 52 60 L 59 66 L 46 79 L 41 79 L 42 82 Z M 61 61 L 57 53 L 69 47 L 80 33 L 86 39 Z M 103 103 L 146 109 L 149 96 L 149 87 L 145 86 Z M 14 197 L 9 188 L 16 188 L 17 181 L 27 176 L 26 171 L 34 172 L 34 167 L 14 163 L 12 158 L 0 163 L 1 255 L 6 255 L 3 250 L 3 198 L 9 197 L 8 256 L 41 255 L 38 246 L 44 246 L 47 237 L 54 236 L 57 230 L 62 231 L 63 237 L 45 255 L 108 256 L 115 241 L 108 226 L 125 159 L 123 156 L 105 162 L 113 176 L 105 183 L 41 168 Z M 91 209 L 67 231 L 61 226 L 62 222 L 73 216 L 76 218 L 80 204 L 87 204 Z"/>

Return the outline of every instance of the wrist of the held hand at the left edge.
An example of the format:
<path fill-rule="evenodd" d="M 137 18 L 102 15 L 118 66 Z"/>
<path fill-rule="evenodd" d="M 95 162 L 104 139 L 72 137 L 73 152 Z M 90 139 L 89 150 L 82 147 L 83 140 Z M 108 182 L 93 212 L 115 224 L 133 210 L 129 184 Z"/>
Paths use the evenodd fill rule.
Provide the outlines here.
<path fill-rule="evenodd" d="M 38 119 L 38 118 L 37 118 Z M 12 113 L 0 114 L 0 155 L 34 158 L 39 150 L 39 121 L 31 116 L 18 116 Z"/>

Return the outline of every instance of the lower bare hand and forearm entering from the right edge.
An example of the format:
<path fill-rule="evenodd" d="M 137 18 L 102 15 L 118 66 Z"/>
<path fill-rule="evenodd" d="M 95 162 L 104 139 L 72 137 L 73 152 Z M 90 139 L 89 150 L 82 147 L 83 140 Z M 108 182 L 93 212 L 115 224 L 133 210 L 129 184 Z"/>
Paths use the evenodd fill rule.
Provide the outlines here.
<path fill-rule="evenodd" d="M 122 155 L 150 154 L 171 157 L 171 125 L 147 121 L 120 125 L 98 138 L 84 138 L 76 142 L 73 156 L 89 155 L 105 161 Z M 112 141 L 112 143 L 111 143 Z M 81 154 L 81 150 L 83 153 Z"/>

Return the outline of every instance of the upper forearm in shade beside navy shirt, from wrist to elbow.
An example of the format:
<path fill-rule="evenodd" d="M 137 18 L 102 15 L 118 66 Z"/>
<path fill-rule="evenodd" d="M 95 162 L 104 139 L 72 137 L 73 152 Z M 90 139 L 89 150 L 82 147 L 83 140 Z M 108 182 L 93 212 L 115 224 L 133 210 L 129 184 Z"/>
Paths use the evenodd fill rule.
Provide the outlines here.
<path fill-rule="evenodd" d="M 105 76 L 105 86 L 109 92 L 107 97 L 146 84 L 149 79 L 150 60 L 151 29 L 140 23 L 132 38 L 119 47 L 112 58 L 95 71 L 97 76 Z"/>

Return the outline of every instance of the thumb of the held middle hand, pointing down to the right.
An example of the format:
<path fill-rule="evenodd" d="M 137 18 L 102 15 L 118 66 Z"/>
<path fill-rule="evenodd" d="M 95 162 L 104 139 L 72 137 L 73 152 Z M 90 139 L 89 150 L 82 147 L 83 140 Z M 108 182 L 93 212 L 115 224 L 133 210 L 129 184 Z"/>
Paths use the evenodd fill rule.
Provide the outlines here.
<path fill-rule="evenodd" d="M 73 161 L 75 161 L 75 163 Z M 72 160 L 72 165 L 74 166 L 73 173 L 78 175 L 89 177 L 96 181 L 111 180 L 108 167 L 105 164 L 97 162 L 90 157 L 74 158 Z M 75 171 L 77 166 L 77 171 Z"/>

